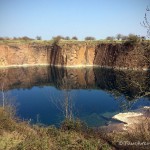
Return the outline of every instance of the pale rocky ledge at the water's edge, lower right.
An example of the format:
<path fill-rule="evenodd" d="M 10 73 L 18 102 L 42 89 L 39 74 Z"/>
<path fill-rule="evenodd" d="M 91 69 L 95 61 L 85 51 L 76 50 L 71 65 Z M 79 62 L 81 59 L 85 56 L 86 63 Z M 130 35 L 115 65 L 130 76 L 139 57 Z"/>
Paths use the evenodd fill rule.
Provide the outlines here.
<path fill-rule="evenodd" d="M 109 124 L 102 127 L 106 132 L 133 131 L 138 128 L 149 128 L 150 126 L 150 107 L 145 106 L 132 112 L 119 113 L 112 117 L 120 123 Z"/>

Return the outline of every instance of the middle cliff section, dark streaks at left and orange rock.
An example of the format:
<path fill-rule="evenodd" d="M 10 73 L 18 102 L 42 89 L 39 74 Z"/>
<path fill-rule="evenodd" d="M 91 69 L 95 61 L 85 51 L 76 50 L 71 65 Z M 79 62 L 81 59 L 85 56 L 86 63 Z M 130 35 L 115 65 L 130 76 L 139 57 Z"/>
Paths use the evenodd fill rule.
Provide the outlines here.
<path fill-rule="evenodd" d="M 52 46 L 50 64 L 59 66 L 92 66 L 94 57 L 95 45 L 62 43 Z"/>

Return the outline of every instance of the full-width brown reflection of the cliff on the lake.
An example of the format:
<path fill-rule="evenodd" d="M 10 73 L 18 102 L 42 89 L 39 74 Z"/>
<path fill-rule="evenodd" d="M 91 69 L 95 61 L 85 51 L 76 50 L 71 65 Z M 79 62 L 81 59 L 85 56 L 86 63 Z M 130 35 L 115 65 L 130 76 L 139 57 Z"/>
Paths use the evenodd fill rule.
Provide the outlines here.
<path fill-rule="evenodd" d="M 0 83 L 5 89 L 53 85 L 59 89 L 102 89 L 124 94 L 129 99 L 148 95 L 149 73 L 114 71 L 103 68 L 28 67 L 0 69 Z M 68 86 L 66 86 L 69 83 Z"/>

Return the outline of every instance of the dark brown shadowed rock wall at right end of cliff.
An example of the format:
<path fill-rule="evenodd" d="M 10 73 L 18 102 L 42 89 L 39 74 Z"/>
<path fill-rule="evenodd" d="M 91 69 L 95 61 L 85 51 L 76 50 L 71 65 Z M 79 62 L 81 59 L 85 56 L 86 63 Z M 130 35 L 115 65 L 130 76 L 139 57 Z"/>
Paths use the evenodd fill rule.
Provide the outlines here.
<path fill-rule="evenodd" d="M 94 64 L 113 68 L 148 69 L 148 57 L 142 45 L 100 44 L 96 48 Z"/>

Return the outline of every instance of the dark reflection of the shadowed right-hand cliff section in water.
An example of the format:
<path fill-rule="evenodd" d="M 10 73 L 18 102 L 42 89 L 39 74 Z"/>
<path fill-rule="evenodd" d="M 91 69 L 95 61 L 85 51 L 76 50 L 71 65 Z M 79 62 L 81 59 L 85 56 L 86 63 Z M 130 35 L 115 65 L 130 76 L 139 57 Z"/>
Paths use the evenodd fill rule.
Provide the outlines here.
<path fill-rule="evenodd" d="M 113 97 L 124 95 L 128 101 L 149 95 L 149 72 L 131 70 L 94 69 L 96 87 Z"/>

